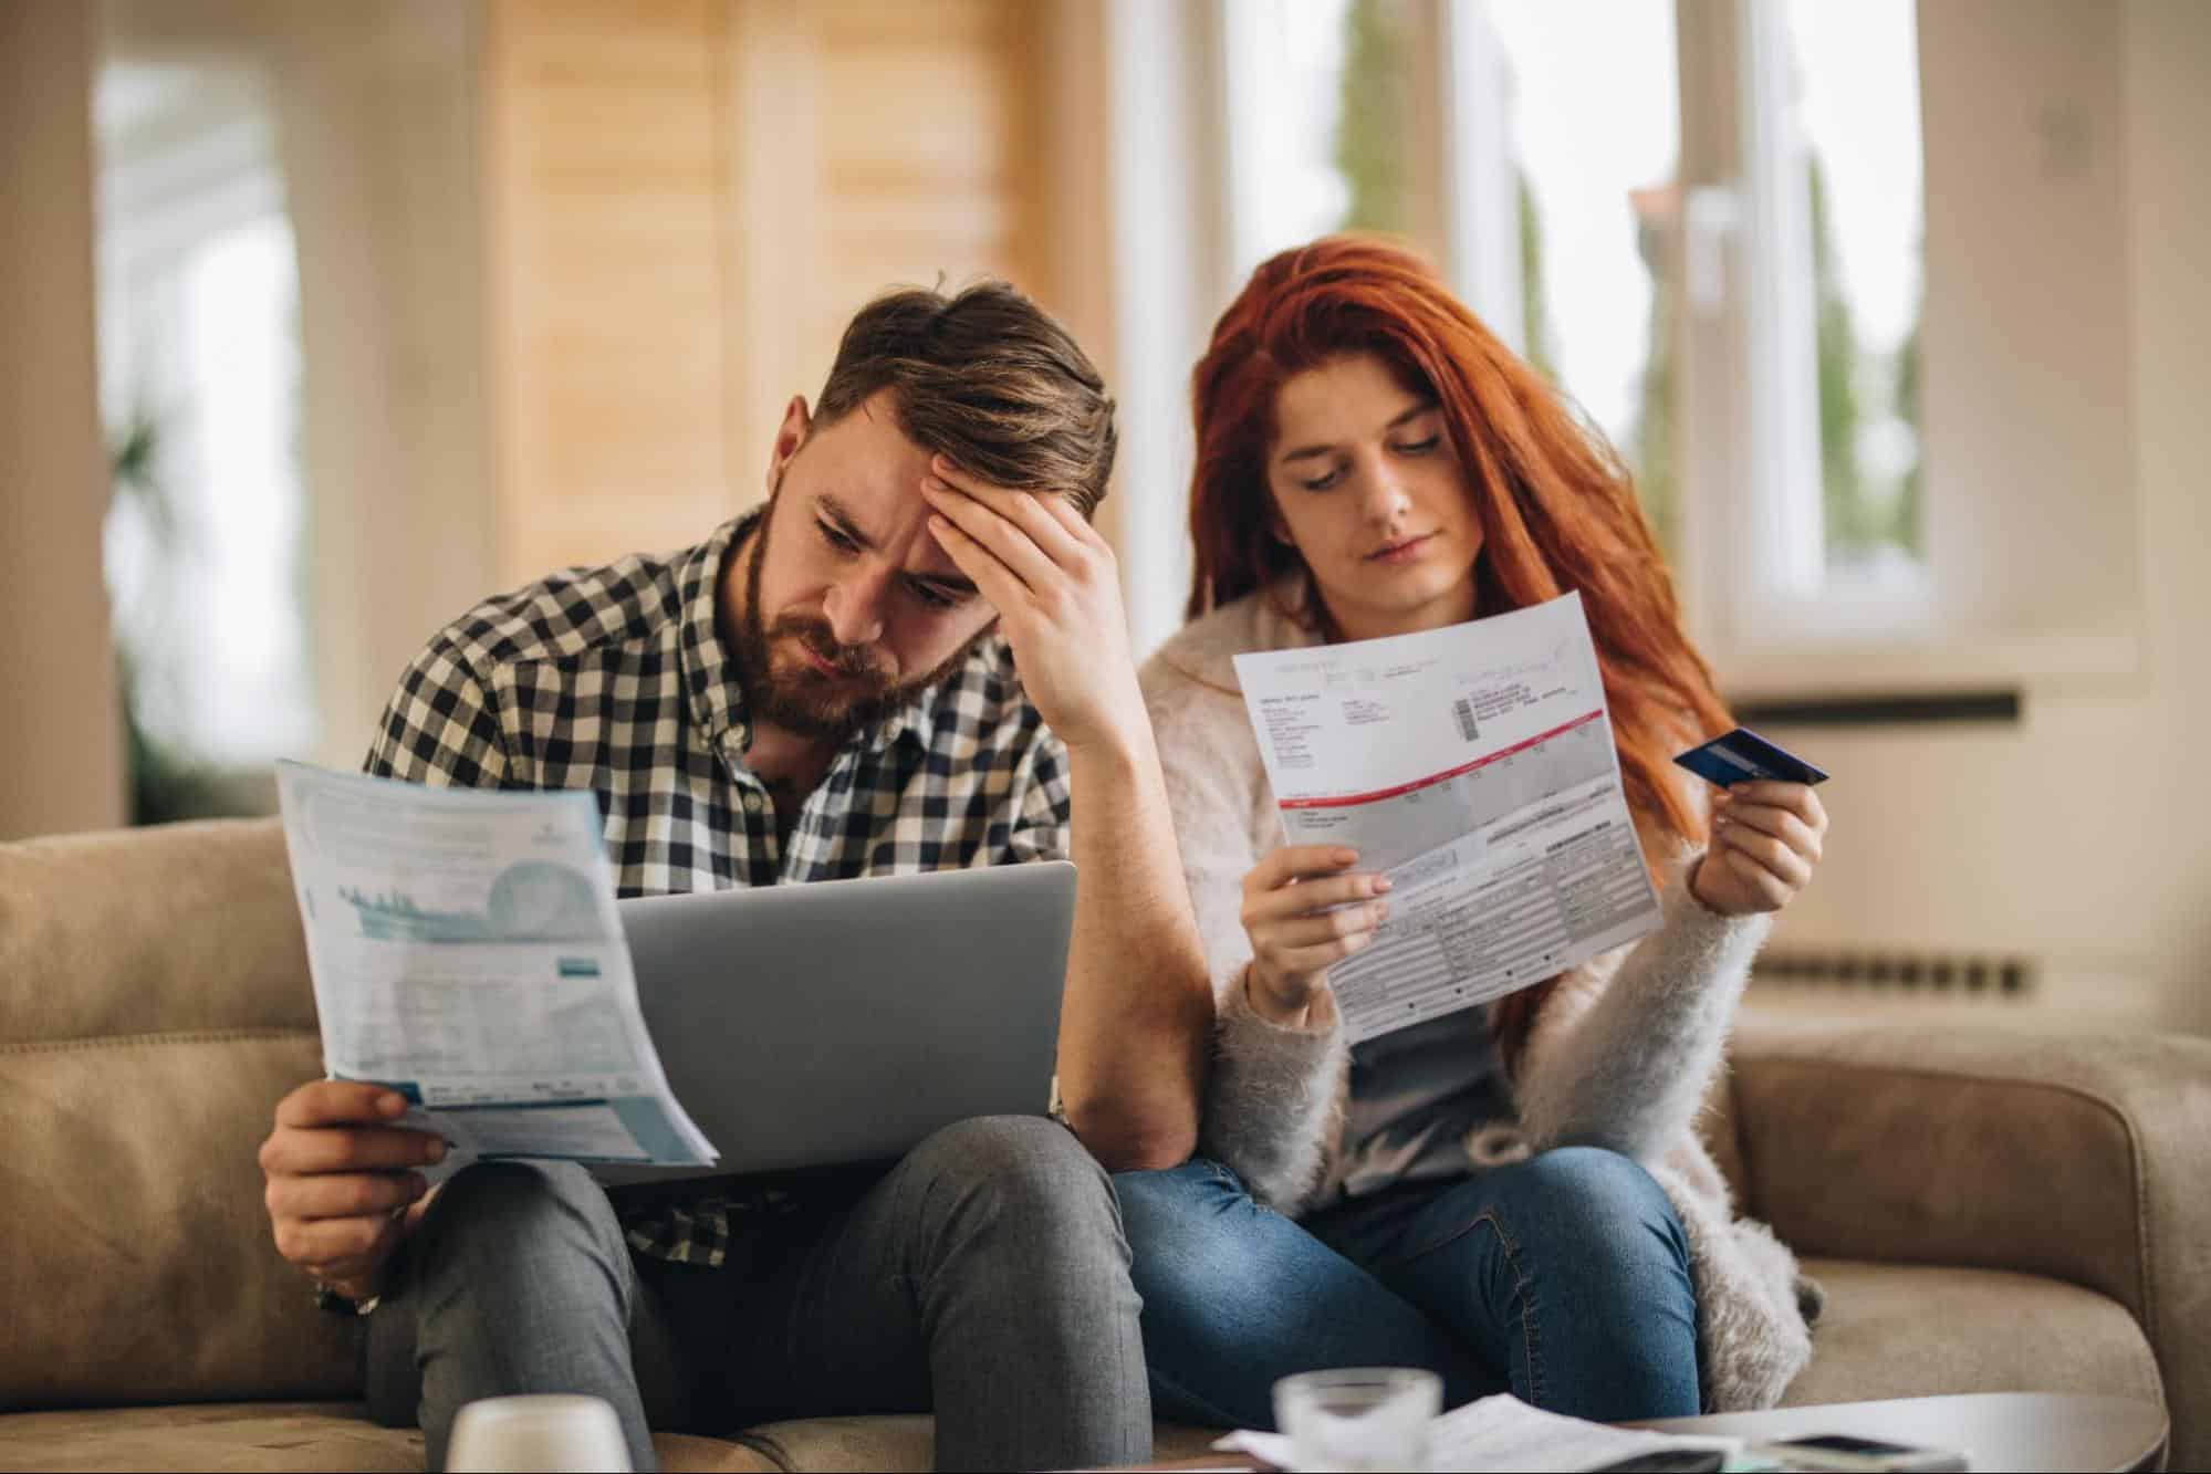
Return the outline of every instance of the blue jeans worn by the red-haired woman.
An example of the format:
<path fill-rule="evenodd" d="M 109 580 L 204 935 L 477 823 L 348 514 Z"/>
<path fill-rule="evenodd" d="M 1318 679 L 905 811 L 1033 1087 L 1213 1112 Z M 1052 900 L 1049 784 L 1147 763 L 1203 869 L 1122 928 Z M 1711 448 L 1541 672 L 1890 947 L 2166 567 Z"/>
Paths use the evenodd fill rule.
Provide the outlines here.
<path fill-rule="evenodd" d="M 1561 1147 L 1293 1222 L 1192 1160 L 1114 1178 L 1159 1417 L 1274 1428 L 1278 1377 L 1424 1366 L 1585 1419 L 1698 1412 L 1674 1204 L 1636 1162 Z"/>

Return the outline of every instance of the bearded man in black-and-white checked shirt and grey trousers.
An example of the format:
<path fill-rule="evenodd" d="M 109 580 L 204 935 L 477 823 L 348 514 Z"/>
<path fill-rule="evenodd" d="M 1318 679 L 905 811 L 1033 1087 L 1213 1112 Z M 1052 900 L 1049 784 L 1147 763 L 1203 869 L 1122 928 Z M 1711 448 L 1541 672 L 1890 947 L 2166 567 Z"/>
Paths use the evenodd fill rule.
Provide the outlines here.
<path fill-rule="evenodd" d="M 1068 857 L 1061 1120 L 966 1120 L 889 1173 L 597 1187 L 316 1081 L 261 1151 L 279 1249 L 369 1315 L 369 1399 L 444 1465 L 480 1397 L 586 1392 L 650 1428 L 937 1414 L 937 1467 L 1150 1454 L 1108 1171 L 1196 1143 L 1212 992 L 1090 528 L 1112 400 L 1004 283 L 862 309 L 794 398 L 767 506 L 666 557 L 500 594 L 413 661 L 367 769 L 590 789 L 624 895 Z M 1161 862 L 1161 857 L 1167 857 Z M 803 988 L 747 972 L 732 988 Z M 825 1078 L 825 1092 L 838 1083 Z M 1039 1103 L 1041 1107 L 1041 1103 Z"/>

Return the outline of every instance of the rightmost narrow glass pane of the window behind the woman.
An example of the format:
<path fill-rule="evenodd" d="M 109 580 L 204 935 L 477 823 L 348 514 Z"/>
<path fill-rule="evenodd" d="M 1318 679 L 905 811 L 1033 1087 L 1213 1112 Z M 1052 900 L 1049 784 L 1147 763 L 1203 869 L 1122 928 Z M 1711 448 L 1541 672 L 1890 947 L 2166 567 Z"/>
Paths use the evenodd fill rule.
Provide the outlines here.
<path fill-rule="evenodd" d="M 1764 592 L 1924 603 L 1913 0 L 1740 11 Z M 1879 106 L 1868 106 L 1879 99 Z"/>

